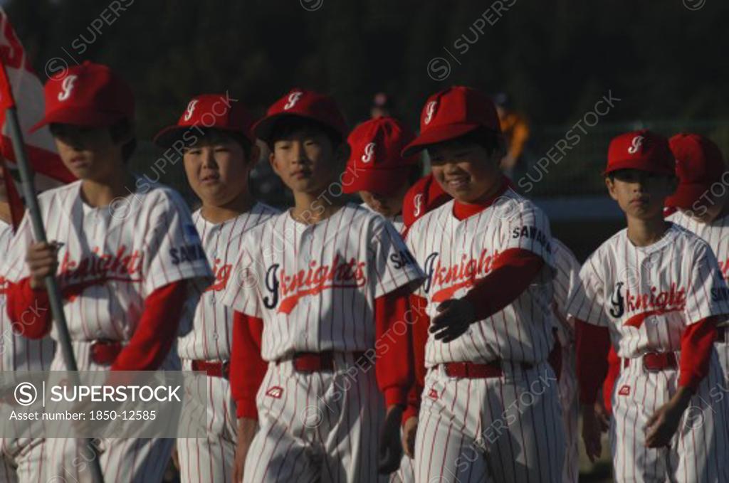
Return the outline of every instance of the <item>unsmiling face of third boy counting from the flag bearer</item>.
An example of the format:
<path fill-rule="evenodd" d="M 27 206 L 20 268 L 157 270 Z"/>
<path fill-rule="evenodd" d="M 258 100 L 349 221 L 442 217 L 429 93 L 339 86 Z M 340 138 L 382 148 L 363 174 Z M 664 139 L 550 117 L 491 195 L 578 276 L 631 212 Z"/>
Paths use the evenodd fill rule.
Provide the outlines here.
<path fill-rule="evenodd" d="M 344 143 L 343 143 L 344 145 Z M 296 130 L 273 143 L 273 171 L 292 192 L 318 194 L 339 176 L 346 159 L 330 138 L 318 130 Z"/>

